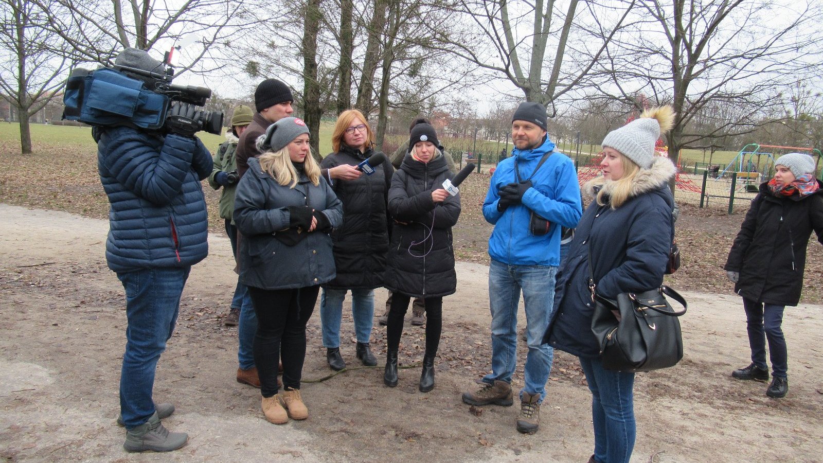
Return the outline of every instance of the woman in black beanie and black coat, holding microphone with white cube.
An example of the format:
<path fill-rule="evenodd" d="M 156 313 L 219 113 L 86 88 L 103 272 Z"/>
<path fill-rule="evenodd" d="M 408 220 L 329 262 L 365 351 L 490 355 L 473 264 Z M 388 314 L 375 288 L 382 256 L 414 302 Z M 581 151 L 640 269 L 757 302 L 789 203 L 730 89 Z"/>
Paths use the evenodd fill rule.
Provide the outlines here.
<path fill-rule="evenodd" d="M 417 124 L 411 151 L 394 173 L 388 212 L 394 219 L 385 287 L 393 292 L 388 311 L 386 386 L 398 385 L 398 348 L 412 297 L 425 301 L 425 355 L 420 391 L 435 387 L 435 355 L 443 325 L 443 297 L 457 289 L 452 227 L 460 216 L 460 196 L 442 188 L 452 174 L 429 124 Z"/>

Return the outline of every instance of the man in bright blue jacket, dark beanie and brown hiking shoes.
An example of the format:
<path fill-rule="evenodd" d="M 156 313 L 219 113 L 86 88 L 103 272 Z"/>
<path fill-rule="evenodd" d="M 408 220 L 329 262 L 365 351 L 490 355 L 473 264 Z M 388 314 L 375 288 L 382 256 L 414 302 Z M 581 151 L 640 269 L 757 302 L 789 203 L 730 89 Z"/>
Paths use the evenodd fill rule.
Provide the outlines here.
<path fill-rule="evenodd" d="M 513 404 L 511 380 L 522 289 L 528 354 L 517 429 L 531 434 L 540 424 L 551 370 L 553 353 L 542 344 L 542 336 L 553 309 L 560 227 L 574 228 L 583 211 L 574 164 L 554 151 L 555 143 L 546 133 L 545 106 L 518 106 L 512 118 L 512 140 L 512 157 L 497 165 L 483 203 L 483 216 L 495 226 L 489 238 L 492 372 L 482 378 L 478 391 L 463 394 L 463 402 Z"/>

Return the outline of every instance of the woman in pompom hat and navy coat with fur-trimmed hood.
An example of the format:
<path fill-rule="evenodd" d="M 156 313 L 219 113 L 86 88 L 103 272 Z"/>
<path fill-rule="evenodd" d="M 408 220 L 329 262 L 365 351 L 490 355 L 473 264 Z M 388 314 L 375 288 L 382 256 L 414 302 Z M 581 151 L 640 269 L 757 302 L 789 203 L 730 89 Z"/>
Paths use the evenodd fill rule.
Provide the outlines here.
<path fill-rule="evenodd" d="M 603 175 L 584 185 L 593 196 L 557 274 L 554 320 L 544 342 L 578 356 L 592 391 L 594 455 L 589 462 L 628 462 L 635 445 L 635 373 L 603 367 L 592 333 L 593 279 L 597 294 L 644 292 L 663 283 L 674 237 L 676 169 L 654 156 L 661 132 L 672 127 L 670 106 L 649 110 L 603 140 Z"/>

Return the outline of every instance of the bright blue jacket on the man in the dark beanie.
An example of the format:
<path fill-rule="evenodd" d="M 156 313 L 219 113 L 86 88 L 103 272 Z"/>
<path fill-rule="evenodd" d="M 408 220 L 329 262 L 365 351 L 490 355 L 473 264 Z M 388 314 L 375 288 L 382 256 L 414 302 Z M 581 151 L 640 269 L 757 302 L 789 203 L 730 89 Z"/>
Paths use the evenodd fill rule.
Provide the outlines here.
<path fill-rule="evenodd" d="M 515 148 L 514 156 L 500 161 L 491 175 L 489 193 L 483 202 L 483 216 L 495 226 L 489 238 L 489 255 L 509 265 L 560 265 L 560 226 L 574 228 L 583 215 L 580 186 L 574 163 L 563 153 L 555 152 L 532 177 L 532 188 L 523 194 L 520 204 L 497 210 L 500 189 L 514 183 L 514 161 L 518 161 L 522 180 L 532 175 L 546 152 L 555 149 L 548 136 L 543 144 L 530 150 Z M 528 225 L 534 211 L 551 222 L 546 235 L 535 236 Z"/>

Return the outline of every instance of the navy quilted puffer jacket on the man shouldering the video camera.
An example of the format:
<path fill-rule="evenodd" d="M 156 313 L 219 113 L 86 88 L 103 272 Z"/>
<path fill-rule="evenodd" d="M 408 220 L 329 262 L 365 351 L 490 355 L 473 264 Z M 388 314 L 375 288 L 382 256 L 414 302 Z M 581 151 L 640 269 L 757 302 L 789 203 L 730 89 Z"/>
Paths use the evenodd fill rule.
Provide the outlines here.
<path fill-rule="evenodd" d="M 100 181 L 109 197 L 109 269 L 187 267 L 208 254 L 200 180 L 212 156 L 197 138 L 164 137 L 130 127 L 101 130 Z"/>

